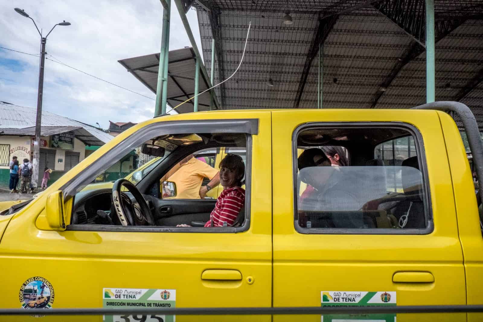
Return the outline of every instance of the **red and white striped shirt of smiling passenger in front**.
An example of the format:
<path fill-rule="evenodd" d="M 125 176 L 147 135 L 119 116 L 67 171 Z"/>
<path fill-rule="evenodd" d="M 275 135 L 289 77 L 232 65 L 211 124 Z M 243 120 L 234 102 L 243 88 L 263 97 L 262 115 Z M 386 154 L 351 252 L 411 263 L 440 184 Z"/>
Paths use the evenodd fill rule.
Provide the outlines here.
<path fill-rule="evenodd" d="M 210 220 L 205 224 L 205 227 L 212 227 L 212 221 L 213 227 L 223 227 L 224 223 L 227 223 L 226 226 L 231 226 L 244 204 L 245 189 L 233 187 L 223 190 L 216 199 Z"/>

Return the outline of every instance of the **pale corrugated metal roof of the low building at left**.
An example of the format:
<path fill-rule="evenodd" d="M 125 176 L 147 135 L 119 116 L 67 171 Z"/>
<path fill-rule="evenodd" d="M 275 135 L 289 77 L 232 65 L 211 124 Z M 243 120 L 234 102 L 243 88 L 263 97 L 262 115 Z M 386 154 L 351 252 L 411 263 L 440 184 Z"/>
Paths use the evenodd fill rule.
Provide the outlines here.
<path fill-rule="evenodd" d="M 0 135 L 34 135 L 36 116 L 36 109 L 0 101 Z M 74 135 L 88 145 L 102 145 L 113 139 L 113 136 L 94 126 L 51 112 L 42 112 L 42 135 L 67 131 L 74 131 Z"/>

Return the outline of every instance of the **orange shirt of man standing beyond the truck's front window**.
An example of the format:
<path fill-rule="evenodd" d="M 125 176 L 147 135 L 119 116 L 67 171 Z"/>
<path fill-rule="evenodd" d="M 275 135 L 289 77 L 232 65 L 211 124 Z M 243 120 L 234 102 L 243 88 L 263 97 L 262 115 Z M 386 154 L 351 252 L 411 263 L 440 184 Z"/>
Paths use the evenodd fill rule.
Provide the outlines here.
<path fill-rule="evenodd" d="M 203 161 L 196 159 L 193 154 L 186 156 L 161 178 L 161 182 L 176 183 L 175 199 L 202 199 L 206 193 L 220 183 L 220 173 Z M 201 186 L 203 178 L 211 181 Z"/>

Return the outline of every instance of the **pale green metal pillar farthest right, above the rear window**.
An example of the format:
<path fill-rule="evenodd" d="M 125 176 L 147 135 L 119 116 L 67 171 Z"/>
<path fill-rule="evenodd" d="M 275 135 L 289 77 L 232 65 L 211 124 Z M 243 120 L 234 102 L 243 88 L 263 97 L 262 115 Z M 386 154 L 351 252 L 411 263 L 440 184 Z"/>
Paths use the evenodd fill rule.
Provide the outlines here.
<path fill-rule="evenodd" d="M 426 103 L 435 98 L 434 0 L 426 0 Z"/>

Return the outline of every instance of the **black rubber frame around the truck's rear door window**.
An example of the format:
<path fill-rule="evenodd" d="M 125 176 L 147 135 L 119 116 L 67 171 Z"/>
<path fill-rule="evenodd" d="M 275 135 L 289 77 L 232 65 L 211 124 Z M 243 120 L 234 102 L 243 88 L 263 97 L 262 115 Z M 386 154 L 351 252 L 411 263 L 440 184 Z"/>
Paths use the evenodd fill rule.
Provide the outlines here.
<path fill-rule="evenodd" d="M 305 228 L 298 224 L 298 156 L 297 156 L 297 138 L 298 134 L 305 130 L 317 128 L 391 128 L 402 129 L 412 135 L 416 154 L 420 165 L 420 171 L 423 175 L 423 203 L 425 206 L 425 222 L 424 229 L 394 229 L 394 228 Z M 397 138 L 391 138 L 394 140 Z M 386 140 L 386 141 L 389 141 Z M 386 141 L 378 142 L 372 148 Z M 332 144 L 333 145 L 333 144 Z M 308 122 L 295 128 L 292 134 L 292 172 L 293 172 L 293 196 L 294 196 L 294 228 L 300 234 L 316 234 L 316 235 L 428 235 L 434 230 L 433 212 L 431 205 L 431 194 L 429 189 L 429 177 L 427 172 L 426 153 L 424 148 L 424 140 L 421 132 L 413 125 L 402 122 Z"/>

